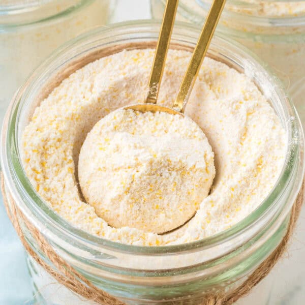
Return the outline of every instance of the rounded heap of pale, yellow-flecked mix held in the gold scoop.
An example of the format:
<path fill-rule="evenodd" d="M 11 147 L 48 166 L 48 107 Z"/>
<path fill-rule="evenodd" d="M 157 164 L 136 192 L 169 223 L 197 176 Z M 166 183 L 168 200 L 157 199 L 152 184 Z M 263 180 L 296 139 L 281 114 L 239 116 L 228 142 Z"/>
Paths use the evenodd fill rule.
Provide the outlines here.
<path fill-rule="evenodd" d="M 206 136 L 180 114 L 113 111 L 89 132 L 79 154 L 82 194 L 115 228 L 164 233 L 183 225 L 214 177 Z"/>

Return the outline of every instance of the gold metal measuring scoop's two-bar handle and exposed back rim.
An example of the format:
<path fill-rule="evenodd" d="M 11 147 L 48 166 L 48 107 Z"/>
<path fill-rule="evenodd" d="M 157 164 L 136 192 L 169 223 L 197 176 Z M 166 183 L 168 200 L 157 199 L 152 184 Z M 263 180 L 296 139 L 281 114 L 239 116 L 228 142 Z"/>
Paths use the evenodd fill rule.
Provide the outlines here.
<path fill-rule="evenodd" d="M 198 72 L 203 62 L 204 56 L 210 44 L 211 38 L 215 32 L 215 28 L 219 21 L 220 15 L 224 8 L 226 0 L 214 0 L 211 5 L 208 16 L 202 27 L 199 39 L 197 41 L 194 53 L 187 68 L 187 72 L 182 80 L 177 98 L 172 108 L 157 105 L 157 98 L 160 83 L 163 75 L 165 59 L 169 46 L 170 36 L 174 25 L 178 0 L 168 0 L 166 3 L 161 30 L 159 34 L 158 44 L 156 48 L 153 68 L 151 69 L 148 82 L 148 94 L 145 104 L 137 104 L 124 107 L 124 109 L 132 109 L 140 112 L 167 112 L 170 114 L 184 115 L 184 110 L 188 99 L 195 84 Z"/>

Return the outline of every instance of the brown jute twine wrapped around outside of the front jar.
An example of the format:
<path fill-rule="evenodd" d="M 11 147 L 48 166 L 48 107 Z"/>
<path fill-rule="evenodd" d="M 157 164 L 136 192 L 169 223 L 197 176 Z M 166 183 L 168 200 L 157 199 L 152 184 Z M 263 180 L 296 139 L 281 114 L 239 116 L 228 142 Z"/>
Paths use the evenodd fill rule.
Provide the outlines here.
<path fill-rule="evenodd" d="M 51 247 L 44 236 L 25 218 L 20 209 L 17 207 L 15 201 L 10 194 L 6 194 L 4 178 L 2 174 L 1 179 L 1 189 L 4 198 L 4 205 L 6 207 L 8 216 L 13 223 L 13 226 L 19 235 L 19 238 L 29 255 L 31 255 L 38 264 L 40 264 L 49 274 L 60 284 L 63 284 L 71 291 L 76 294 L 88 299 L 95 301 L 103 305 L 126 305 L 126 303 L 120 301 L 116 297 L 110 295 L 109 293 L 99 289 L 92 283 L 90 283 L 85 277 L 83 277 L 77 270 L 75 270 L 69 263 L 62 259 Z M 297 196 L 297 199 L 291 210 L 290 222 L 288 225 L 287 233 L 282 239 L 280 245 L 276 248 L 272 254 L 263 261 L 257 269 L 252 273 L 252 275 L 238 288 L 229 294 L 211 294 L 207 295 L 204 300 L 200 302 L 200 305 L 232 305 L 240 297 L 246 296 L 251 289 L 256 286 L 262 279 L 264 279 L 270 270 L 279 261 L 282 255 L 287 250 L 287 245 L 291 235 L 293 234 L 296 221 L 300 214 L 301 206 L 303 203 L 303 191 L 304 191 L 304 181 L 302 188 Z M 9 198 L 9 202 L 8 202 Z M 42 260 L 36 252 L 32 249 L 29 243 L 26 241 L 23 231 L 20 227 L 18 216 L 22 218 L 27 229 L 31 232 L 34 237 L 39 250 L 52 262 L 57 270 L 54 270 L 50 265 L 48 265 L 44 260 Z M 172 302 L 173 304 L 175 302 Z M 180 303 L 180 302 L 179 302 Z"/>

